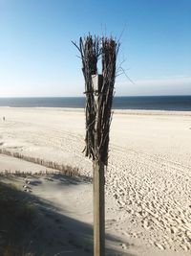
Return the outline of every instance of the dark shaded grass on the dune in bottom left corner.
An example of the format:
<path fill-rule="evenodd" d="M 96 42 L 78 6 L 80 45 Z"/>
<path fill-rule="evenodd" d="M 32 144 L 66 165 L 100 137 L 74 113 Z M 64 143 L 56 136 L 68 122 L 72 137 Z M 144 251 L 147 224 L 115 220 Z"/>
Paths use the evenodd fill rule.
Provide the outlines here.
<path fill-rule="evenodd" d="M 14 185 L 0 182 L 0 255 L 32 256 L 25 253 L 23 241 L 32 228 L 35 207 Z"/>

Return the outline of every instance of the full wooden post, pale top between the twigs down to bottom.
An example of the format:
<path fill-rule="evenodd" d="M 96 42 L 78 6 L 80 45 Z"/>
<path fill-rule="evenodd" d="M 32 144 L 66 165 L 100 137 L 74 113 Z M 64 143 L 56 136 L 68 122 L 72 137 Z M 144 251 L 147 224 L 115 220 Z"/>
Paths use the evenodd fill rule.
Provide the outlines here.
<path fill-rule="evenodd" d="M 98 127 L 99 94 L 102 87 L 102 76 L 92 76 L 95 102 L 96 102 L 96 133 L 95 150 L 96 160 L 93 162 L 93 198 L 94 198 L 94 256 L 105 255 L 105 175 L 104 164 L 100 161 L 99 144 L 101 130 Z"/>

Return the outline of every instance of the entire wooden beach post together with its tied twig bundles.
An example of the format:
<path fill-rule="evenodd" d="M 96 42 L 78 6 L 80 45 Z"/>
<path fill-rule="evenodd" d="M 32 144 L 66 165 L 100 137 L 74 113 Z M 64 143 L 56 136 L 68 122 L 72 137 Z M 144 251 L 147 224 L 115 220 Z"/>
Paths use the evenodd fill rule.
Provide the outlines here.
<path fill-rule="evenodd" d="M 74 43 L 74 42 L 73 42 Z M 80 37 L 74 43 L 82 59 L 86 95 L 86 156 L 93 159 L 94 255 L 105 255 L 105 166 L 108 165 L 109 131 L 119 43 L 114 38 Z M 97 74 L 101 56 L 102 74 Z"/>

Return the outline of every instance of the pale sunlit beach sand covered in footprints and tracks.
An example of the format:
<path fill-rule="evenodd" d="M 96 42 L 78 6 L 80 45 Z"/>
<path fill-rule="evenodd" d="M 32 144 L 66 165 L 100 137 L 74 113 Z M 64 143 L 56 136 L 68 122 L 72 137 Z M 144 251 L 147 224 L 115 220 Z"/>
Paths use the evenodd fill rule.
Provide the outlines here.
<path fill-rule="evenodd" d="M 1 107 L 0 117 L 0 149 L 77 167 L 81 175 L 92 176 L 92 162 L 82 153 L 83 110 Z M 0 171 L 5 170 L 36 173 L 46 168 L 0 155 Z M 190 177 L 191 112 L 115 111 L 106 172 L 106 231 L 116 254 L 109 255 L 190 255 Z M 60 215 L 92 227 L 92 184 L 68 186 L 40 178 L 33 195 L 49 200 Z"/>

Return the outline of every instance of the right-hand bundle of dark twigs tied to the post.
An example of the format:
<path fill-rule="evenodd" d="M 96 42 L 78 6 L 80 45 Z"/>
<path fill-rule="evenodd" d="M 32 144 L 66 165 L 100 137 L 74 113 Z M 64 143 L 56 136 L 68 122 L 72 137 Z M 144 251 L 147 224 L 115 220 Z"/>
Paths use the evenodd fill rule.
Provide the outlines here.
<path fill-rule="evenodd" d="M 116 63 L 119 43 L 115 39 L 103 37 L 101 40 L 102 76 L 103 82 L 98 97 L 98 155 L 100 160 L 107 165 L 109 131 L 111 125 L 111 110 L 116 79 Z"/>

